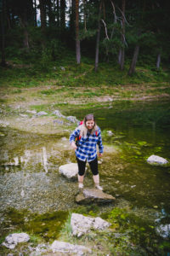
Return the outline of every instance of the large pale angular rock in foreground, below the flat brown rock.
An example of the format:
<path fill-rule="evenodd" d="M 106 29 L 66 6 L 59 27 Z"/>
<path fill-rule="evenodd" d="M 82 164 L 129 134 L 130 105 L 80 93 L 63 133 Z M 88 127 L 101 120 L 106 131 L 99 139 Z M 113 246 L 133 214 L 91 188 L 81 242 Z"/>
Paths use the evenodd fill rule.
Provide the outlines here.
<path fill-rule="evenodd" d="M 102 218 L 85 217 L 82 214 L 71 214 L 71 230 L 73 236 L 82 236 L 89 230 L 105 230 L 111 224 Z"/>

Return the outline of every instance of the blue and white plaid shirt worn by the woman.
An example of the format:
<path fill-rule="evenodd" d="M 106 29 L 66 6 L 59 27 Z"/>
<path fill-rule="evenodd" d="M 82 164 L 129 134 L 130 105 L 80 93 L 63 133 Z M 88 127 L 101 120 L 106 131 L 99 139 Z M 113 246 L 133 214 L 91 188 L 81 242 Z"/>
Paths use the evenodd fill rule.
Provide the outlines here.
<path fill-rule="evenodd" d="M 70 136 L 70 143 L 75 142 L 75 139 L 79 137 L 80 135 L 80 126 L 78 126 L 75 131 L 71 133 Z M 86 137 L 81 137 L 81 139 L 78 141 L 78 146 L 75 151 L 76 156 L 79 160 L 85 161 L 88 160 L 88 162 L 93 161 L 97 157 L 97 149 L 96 145 L 99 146 L 99 153 L 103 153 L 103 144 L 102 144 L 102 138 L 101 138 L 101 131 L 98 126 L 97 134 L 94 131 L 93 134 L 90 134 L 88 132 Z"/>

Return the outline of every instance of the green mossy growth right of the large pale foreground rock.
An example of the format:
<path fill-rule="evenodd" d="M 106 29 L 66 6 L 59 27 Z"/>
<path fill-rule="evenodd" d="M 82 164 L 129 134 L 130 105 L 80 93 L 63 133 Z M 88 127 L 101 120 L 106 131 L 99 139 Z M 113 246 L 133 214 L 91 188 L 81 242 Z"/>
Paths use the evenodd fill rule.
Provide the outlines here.
<path fill-rule="evenodd" d="M 111 236 L 112 252 L 120 255 L 145 255 L 145 253 L 158 253 L 161 255 L 165 247 L 160 245 L 155 232 L 154 224 L 147 219 L 139 218 L 127 209 L 114 208 L 108 215 L 112 229 L 115 230 Z M 154 244 L 153 241 L 155 241 Z M 126 252 L 126 254 L 124 254 Z M 138 253 L 137 253 L 138 252 Z M 123 254 L 122 254 L 123 253 Z"/>

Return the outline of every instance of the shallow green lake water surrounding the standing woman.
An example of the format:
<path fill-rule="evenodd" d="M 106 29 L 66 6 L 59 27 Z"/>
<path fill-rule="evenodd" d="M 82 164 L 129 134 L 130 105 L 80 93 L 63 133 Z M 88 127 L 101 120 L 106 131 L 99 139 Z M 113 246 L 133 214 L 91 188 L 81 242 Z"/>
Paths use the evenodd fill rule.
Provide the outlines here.
<path fill-rule="evenodd" d="M 80 120 L 87 113 L 86 109 L 65 111 L 65 115 L 75 115 Z M 127 207 L 141 218 L 169 224 L 170 167 L 150 166 L 146 162 L 151 154 L 170 159 L 169 102 L 112 102 L 104 108 L 92 108 L 90 113 L 94 113 L 102 130 L 104 147 L 115 149 L 106 150 L 99 173 L 101 185 L 106 193 L 116 197 L 116 205 L 98 207 L 99 212 Z M 107 131 L 112 131 L 112 135 Z M 62 224 L 67 217 L 62 212 L 79 208 L 75 202 L 77 181 L 61 177 L 58 171 L 60 165 L 75 162 L 68 138 L 67 131 L 65 137 L 59 137 L 1 128 L 3 235 L 17 228 L 34 230 L 32 226 L 42 219 L 46 222 L 58 218 Z M 85 186 L 93 186 L 89 168 Z M 42 218 L 36 214 L 42 214 Z M 48 223 L 48 230 L 53 230 L 53 224 Z M 59 230 L 59 224 L 57 227 Z M 53 238 L 53 232 L 48 231 L 50 237 Z"/>

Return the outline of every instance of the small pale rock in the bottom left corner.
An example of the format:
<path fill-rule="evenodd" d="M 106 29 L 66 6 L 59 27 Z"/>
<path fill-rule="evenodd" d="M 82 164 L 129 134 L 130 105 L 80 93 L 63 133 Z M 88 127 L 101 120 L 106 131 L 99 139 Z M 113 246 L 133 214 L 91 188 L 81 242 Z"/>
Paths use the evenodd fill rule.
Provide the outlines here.
<path fill-rule="evenodd" d="M 3 246 L 8 247 L 9 249 L 14 249 L 14 247 L 19 242 L 26 242 L 30 240 L 30 236 L 28 236 L 26 233 L 14 233 L 11 235 L 8 235 L 5 238 L 5 241 L 3 242 Z"/>

